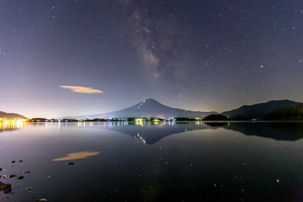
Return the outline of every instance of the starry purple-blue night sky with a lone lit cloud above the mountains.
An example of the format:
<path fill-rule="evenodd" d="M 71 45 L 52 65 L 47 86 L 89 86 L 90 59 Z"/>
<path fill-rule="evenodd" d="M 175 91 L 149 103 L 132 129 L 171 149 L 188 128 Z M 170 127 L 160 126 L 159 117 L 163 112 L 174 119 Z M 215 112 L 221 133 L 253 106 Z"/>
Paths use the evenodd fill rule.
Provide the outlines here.
<path fill-rule="evenodd" d="M 1 0 L 0 111 L 302 102 L 302 11 L 299 0 Z"/>

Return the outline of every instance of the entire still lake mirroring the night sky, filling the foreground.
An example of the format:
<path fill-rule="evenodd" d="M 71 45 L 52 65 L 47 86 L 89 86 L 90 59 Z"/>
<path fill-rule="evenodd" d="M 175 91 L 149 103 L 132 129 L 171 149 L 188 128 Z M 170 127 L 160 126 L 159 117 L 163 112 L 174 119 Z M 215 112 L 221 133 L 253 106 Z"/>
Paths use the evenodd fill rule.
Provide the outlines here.
<path fill-rule="evenodd" d="M 0 122 L 0 180 L 12 184 L 0 201 L 302 201 L 302 133 L 289 122 Z"/>

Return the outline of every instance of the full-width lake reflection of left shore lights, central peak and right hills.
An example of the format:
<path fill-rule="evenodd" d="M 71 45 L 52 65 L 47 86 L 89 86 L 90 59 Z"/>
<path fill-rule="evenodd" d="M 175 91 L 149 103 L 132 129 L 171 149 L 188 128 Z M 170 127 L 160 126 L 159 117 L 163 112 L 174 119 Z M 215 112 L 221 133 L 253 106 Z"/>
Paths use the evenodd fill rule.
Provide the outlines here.
<path fill-rule="evenodd" d="M 26 122 L 0 122 L 0 132 L 16 130 L 28 126 L 44 125 L 45 128 L 60 129 L 67 127 L 67 123 L 26 123 Z M 193 130 L 224 128 L 245 135 L 267 137 L 275 140 L 295 141 L 303 138 L 303 122 L 77 122 L 69 123 L 71 127 L 101 127 L 107 130 L 130 135 L 146 144 L 154 144 L 160 139 L 177 133 Z M 123 127 L 127 126 L 127 127 Z M 173 127 L 171 127 L 173 126 Z M 148 130 L 146 130 L 146 127 Z"/>

